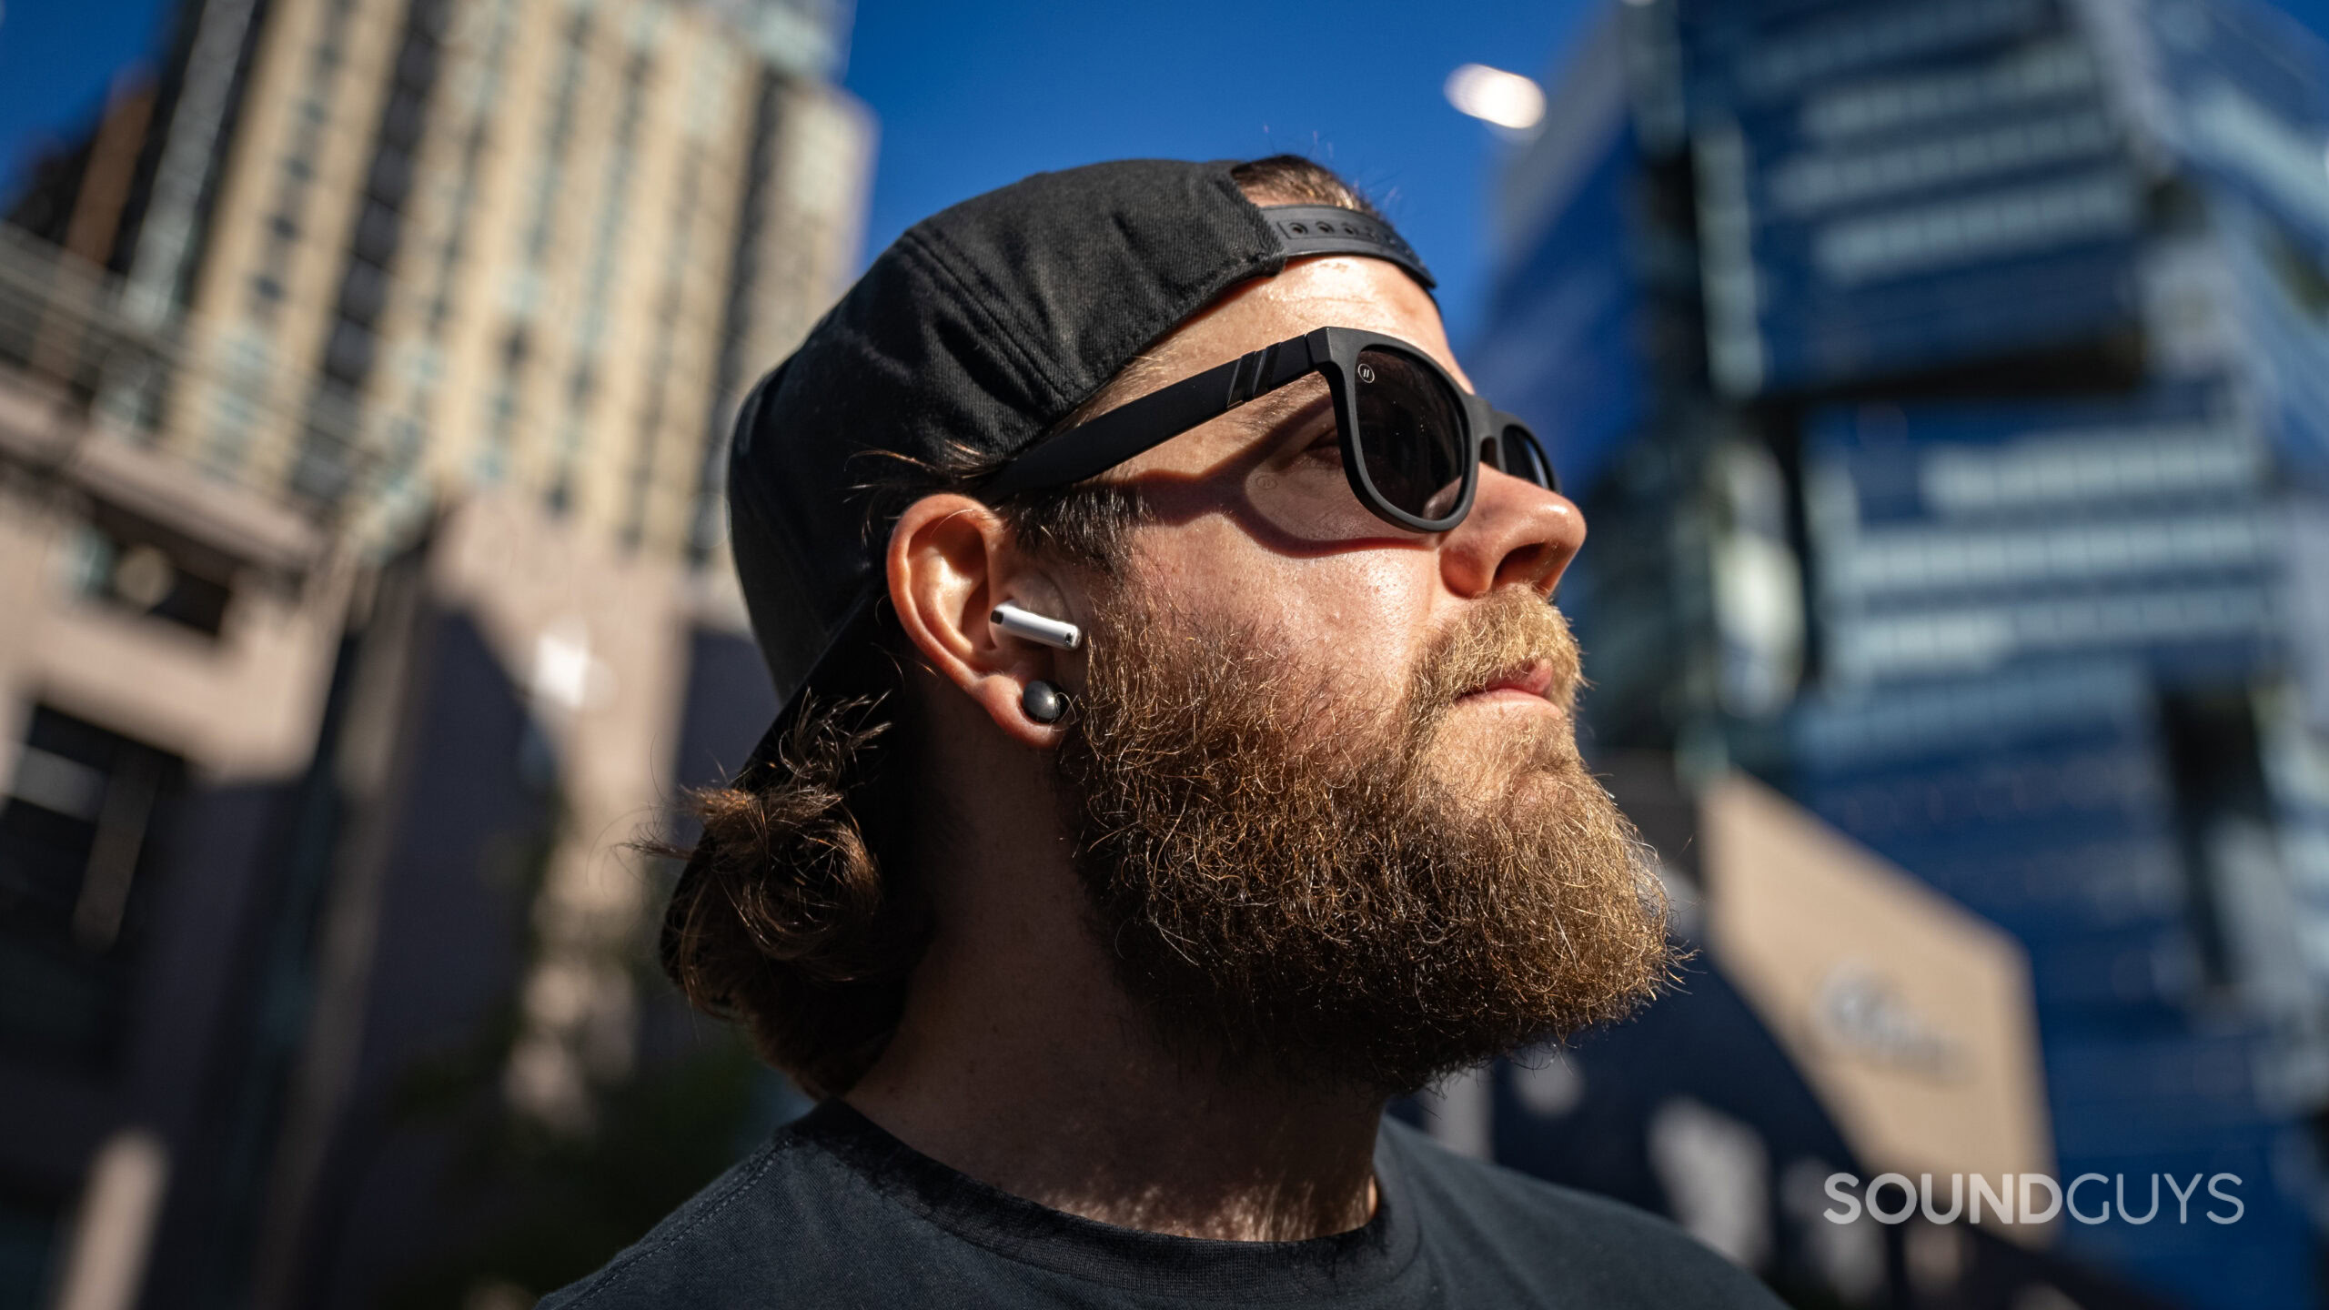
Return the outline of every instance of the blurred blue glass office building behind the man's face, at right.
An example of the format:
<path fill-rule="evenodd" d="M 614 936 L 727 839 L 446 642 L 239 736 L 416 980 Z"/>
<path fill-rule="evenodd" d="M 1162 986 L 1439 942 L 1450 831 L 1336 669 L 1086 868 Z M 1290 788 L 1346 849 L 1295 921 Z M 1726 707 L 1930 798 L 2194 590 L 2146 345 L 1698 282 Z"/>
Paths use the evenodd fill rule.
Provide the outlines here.
<path fill-rule="evenodd" d="M 2243 1179 L 2054 1249 L 2313 1303 L 2329 58 L 2231 0 L 1649 0 L 1546 121 L 1474 375 L 1593 517 L 1600 748 L 2008 930 L 2063 1182 Z"/>

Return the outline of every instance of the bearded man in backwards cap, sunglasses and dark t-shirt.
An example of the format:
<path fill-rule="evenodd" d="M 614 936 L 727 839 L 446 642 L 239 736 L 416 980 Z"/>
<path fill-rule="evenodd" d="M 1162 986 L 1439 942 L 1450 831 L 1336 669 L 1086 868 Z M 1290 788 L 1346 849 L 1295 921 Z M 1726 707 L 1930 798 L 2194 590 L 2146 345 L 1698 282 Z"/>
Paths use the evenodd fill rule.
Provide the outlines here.
<path fill-rule="evenodd" d="M 1430 275 L 1300 159 L 1029 177 L 745 403 L 783 716 L 664 965 L 824 1098 L 550 1305 L 1772 1305 L 1388 1098 L 1616 1019 L 1584 541 Z"/>

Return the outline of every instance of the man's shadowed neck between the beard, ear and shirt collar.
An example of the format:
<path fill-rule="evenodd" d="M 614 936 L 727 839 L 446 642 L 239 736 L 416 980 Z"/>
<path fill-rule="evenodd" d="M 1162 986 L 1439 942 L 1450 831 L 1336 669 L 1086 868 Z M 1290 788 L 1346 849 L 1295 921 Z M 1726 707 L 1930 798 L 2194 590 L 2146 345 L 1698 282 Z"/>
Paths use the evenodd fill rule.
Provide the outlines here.
<path fill-rule="evenodd" d="M 1027 781 L 1011 790 L 1048 797 Z M 990 1186 L 1125 1228 L 1304 1240 L 1372 1217 L 1379 1093 L 1167 1049 L 1113 977 L 1048 802 L 994 797 L 946 827 L 929 846 L 953 858 L 922 862 L 939 932 L 852 1107 Z"/>

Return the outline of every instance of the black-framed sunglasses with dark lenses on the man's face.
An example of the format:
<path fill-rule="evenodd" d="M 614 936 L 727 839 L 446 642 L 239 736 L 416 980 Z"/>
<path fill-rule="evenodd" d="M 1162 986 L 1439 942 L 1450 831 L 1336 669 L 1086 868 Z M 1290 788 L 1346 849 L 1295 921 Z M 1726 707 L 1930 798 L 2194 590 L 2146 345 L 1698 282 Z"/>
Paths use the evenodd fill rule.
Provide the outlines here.
<path fill-rule="evenodd" d="M 1472 513 L 1479 464 L 1560 490 L 1521 420 L 1465 392 L 1430 354 L 1395 336 L 1316 329 L 1127 401 L 1020 455 L 981 492 L 1001 499 L 1081 483 L 1246 401 L 1323 373 L 1351 492 L 1376 517 L 1449 531 Z"/>

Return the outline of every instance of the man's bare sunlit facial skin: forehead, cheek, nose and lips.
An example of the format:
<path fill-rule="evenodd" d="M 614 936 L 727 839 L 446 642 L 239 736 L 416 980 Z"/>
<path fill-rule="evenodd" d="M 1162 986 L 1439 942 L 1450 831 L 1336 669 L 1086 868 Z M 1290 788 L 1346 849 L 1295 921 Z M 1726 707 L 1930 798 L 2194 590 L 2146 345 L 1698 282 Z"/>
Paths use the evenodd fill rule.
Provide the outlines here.
<path fill-rule="evenodd" d="M 1297 261 L 1232 291 L 1151 352 L 1155 385 L 1318 326 L 1402 338 L 1470 387 L 1430 296 L 1395 266 L 1360 256 Z M 1505 580 L 1493 564 L 1479 569 L 1481 557 L 1539 550 L 1565 562 L 1584 536 L 1565 499 L 1493 469 L 1481 471 L 1474 513 L 1451 531 L 1383 522 L 1346 483 L 1318 375 L 1181 434 L 1111 478 L 1139 485 L 1151 510 L 1130 573 L 1158 613 L 1279 653 L 1288 685 L 1302 688 L 1293 695 L 1311 704 L 1307 730 L 1348 739 L 1353 751 L 1395 732 L 1411 688 L 1430 681 L 1432 646 Z M 1556 681 L 1551 664 L 1560 657 L 1539 648 L 1512 669 L 1484 671 L 1479 688 L 1437 692 L 1451 702 L 1435 741 L 1451 781 L 1505 776 L 1491 790 L 1509 790 L 1500 762 L 1516 758 L 1516 744 L 1570 741 L 1567 678 Z"/>

